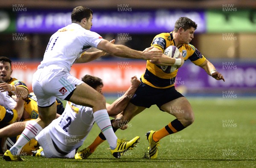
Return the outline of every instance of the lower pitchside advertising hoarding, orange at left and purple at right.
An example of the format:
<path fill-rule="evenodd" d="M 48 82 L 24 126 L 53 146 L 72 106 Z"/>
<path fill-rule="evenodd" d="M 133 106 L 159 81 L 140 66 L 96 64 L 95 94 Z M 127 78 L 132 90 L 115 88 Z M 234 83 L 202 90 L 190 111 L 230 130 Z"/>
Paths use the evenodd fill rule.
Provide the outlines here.
<path fill-rule="evenodd" d="M 32 91 L 32 76 L 39 62 L 12 62 L 12 77 L 23 80 Z M 90 74 L 102 78 L 103 92 L 123 92 L 130 86 L 132 76 L 140 76 L 145 72 L 146 61 L 95 61 L 86 64 L 74 64 L 71 74 L 81 79 Z M 186 88 L 186 92 L 212 92 L 216 90 L 254 90 L 256 89 L 256 64 L 240 62 L 214 62 L 218 72 L 222 73 L 225 82 L 217 81 L 205 71 L 186 61 L 178 71 L 176 86 Z M 49 86 L 50 87 L 50 86 Z"/>

